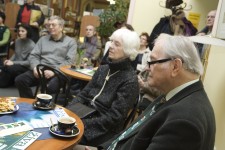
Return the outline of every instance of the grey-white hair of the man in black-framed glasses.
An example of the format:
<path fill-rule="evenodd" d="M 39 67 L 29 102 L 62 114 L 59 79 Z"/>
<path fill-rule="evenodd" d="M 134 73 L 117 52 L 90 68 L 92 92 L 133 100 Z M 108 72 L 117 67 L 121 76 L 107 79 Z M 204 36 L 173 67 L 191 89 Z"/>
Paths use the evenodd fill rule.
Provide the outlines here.
<path fill-rule="evenodd" d="M 156 39 L 155 44 L 160 44 L 169 58 L 180 58 L 188 71 L 202 75 L 203 66 L 198 50 L 188 37 L 163 33 Z"/>

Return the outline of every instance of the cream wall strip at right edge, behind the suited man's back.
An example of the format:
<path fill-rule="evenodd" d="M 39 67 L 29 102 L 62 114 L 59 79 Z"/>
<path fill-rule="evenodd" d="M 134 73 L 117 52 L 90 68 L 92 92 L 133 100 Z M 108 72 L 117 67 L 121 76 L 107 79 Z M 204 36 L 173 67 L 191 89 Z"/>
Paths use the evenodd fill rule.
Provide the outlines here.
<path fill-rule="evenodd" d="M 212 102 L 216 115 L 216 149 L 225 149 L 225 50 L 212 46 L 204 79 L 205 90 Z"/>

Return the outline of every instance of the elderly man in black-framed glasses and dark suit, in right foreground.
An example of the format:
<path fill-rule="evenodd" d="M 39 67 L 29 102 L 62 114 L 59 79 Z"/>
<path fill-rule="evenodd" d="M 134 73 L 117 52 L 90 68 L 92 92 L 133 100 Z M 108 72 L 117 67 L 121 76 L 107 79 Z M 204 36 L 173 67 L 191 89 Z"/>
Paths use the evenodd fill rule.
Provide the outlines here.
<path fill-rule="evenodd" d="M 214 111 L 199 80 L 203 67 L 194 44 L 187 37 L 161 34 L 150 57 L 149 84 L 164 95 L 99 149 L 212 150 Z"/>

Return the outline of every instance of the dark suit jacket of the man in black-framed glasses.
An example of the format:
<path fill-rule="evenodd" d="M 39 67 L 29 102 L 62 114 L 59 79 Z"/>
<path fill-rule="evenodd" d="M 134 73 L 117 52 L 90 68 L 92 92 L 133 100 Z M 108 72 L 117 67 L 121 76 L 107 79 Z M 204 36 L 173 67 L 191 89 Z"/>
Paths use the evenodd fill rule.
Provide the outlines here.
<path fill-rule="evenodd" d="M 154 103 L 157 101 L 159 98 Z M 163 104 L 147 122 L 120 141 L 116 149 L 213 150 L 215 132 L 213 108 L 198 81 Z M 100 149 L 107 149 L 113 140 Z"/>

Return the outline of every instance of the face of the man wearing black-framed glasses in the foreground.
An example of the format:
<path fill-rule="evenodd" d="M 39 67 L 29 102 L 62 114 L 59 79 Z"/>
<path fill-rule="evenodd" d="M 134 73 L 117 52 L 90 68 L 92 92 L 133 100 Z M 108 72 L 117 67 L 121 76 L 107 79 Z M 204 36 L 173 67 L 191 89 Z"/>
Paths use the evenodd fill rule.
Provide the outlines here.
<path fill-rule="evenodd" d="M 157 60 L 167 59 L 168 57 L 165 56 L 161 46 L 157 44 L 154 46 L 150 58 L 151 62 L 153 62 Z M 155 63 L 150 65 L 150 67 L 147 69 L 149 71 L 148 82 L 150 86 L 155 87 L 163 92 L 167 91 L 167 85 L 170 81 L 171 76 L 170 63 L 171 61 L 168 60 L 162 63 Z"/>

